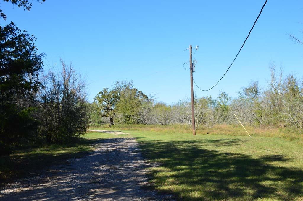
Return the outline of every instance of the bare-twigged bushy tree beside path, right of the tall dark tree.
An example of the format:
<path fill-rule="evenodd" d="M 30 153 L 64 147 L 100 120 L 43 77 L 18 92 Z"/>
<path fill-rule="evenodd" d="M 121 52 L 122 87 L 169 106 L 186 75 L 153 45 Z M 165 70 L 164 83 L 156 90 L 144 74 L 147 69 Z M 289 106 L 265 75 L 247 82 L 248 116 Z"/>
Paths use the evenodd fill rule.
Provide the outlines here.
<path fill-rule="evenodd" d="M 84 134 L 89 123 L 85 80 L 72 64 L 61 60 L 43 78 L 40 92 L 41 130 L 48 142 L 70 141 Z"/>

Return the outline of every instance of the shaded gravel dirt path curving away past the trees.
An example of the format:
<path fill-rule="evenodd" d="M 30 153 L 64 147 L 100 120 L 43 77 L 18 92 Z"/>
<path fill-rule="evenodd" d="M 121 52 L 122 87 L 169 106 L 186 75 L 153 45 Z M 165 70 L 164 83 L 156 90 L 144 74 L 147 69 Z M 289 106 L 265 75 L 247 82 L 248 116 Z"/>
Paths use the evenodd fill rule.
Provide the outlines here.
<path fill-rule="evenodd" d="M 172 200 L 142 188 L 151 164 L 143 160 L 133 138 L 111 138 L 94 147 L 83 158 L 0 189 L 0 200 Z"/>

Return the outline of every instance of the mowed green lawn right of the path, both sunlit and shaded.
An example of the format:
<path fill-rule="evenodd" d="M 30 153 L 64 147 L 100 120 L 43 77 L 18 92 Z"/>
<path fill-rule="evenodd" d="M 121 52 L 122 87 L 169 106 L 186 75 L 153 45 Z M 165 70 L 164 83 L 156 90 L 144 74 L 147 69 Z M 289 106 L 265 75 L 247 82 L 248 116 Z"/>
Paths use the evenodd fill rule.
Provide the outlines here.
<path fill-rule="evenodd" d="M 303 200 L 302 146 L 274 137 L 125 131 L 141 142 L 156 190 L 180 200 Z"/>

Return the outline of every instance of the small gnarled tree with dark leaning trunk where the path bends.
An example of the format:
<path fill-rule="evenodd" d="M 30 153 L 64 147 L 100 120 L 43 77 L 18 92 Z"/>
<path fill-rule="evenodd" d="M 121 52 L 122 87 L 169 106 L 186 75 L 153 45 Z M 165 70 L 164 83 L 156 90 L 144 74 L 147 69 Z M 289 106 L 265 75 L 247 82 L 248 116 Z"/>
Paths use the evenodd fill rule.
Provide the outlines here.
<path fill-rule="evenodd" d="M 94 102 L 98 107 L 98 113 L 102 117 L 109 118 L 109 126 L 114 125 L 114 118 L 116 116 L 116 105 L 120 97 L 117 90 L 108 90 L 103 88 L 101 92 L 94 98 Z"/>

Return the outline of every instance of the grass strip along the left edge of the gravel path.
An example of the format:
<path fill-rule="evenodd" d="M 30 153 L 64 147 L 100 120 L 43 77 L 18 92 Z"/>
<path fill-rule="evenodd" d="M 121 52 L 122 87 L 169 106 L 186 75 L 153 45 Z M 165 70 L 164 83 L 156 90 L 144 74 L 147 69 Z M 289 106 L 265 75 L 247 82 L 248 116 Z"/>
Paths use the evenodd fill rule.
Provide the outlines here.
<path fill-rule="evenodd" d="M 70 144 L 18 148 L 10 155 L 0 156 L 0 185 L 24 175 L 34 174 L 50 165 L 65 164 L 67 159 L 83 157 L 93 151 L 90 144 L 106 138 L 117 138 L 117 135 L 89 132 L 82 139 Z"/>

